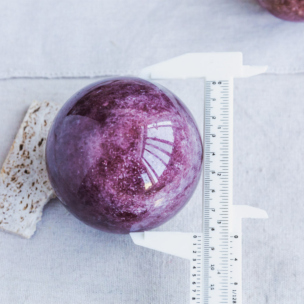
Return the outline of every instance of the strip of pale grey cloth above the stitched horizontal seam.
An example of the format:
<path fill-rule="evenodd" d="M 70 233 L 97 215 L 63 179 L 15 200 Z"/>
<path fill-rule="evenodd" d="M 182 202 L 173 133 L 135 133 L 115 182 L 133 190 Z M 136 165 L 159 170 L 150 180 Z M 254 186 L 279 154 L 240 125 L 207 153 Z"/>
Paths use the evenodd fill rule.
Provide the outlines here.
<path fill-rule="evenodd" d="M 243 52 L 268 73 L 304 72 L 304 23 L 256 1 L 9 1 L 0 28 L 0 78 L 127 74 L 214 51 Z"/>

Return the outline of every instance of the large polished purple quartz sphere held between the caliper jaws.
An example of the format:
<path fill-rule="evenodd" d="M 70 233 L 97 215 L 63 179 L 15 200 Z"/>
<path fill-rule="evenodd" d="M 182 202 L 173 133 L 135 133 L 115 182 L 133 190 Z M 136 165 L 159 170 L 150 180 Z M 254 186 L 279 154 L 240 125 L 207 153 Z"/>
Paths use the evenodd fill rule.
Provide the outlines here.
<path fill-rule="evenodd" d="M 50 128 L 46 164 L 64 206 L 112 233 L 150 230 L 189 201 L 202 168 L 192 114 L 168 89 L 112 77 L 75 93 Z"/>

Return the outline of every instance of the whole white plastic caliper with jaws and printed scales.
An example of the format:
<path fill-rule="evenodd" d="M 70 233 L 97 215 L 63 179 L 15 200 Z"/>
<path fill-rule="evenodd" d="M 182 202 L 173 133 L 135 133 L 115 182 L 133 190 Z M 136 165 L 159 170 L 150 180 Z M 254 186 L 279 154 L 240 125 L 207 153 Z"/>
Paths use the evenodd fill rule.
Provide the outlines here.
<path fill-rule="evenodd" d="M 233 78 L 266 71 L 242 54 L 188 53 L 144 68 L 148 79 L 204 78 L 203 231 L 130 233 L 135 244 L 190 260 L 190 304 L 241 304 L 241 220 L 264 210 L 232 204 Z M 203 105 L 202 105 L 203 106 Z"/>

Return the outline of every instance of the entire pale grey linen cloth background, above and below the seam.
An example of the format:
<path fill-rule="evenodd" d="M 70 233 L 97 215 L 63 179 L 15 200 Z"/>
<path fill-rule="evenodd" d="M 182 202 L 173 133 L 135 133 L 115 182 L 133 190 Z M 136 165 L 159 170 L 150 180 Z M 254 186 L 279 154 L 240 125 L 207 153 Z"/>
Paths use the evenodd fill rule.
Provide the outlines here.
<path fill-rule="evenodd" d="M 234 82 L 233 202 L 243 221 L 243 302 L 304 299 L 304 23 L 256 1 L 0 2 L 0 160 L 29 104 L 63 104 L 107 75 L 187 52 L 241 51 L 265 74 Z M 203 131 L 203 81 L 161 81 Z M 158 231 L 200 231 L 202 182 Z M 0 303 L 188 303 L 189 262 L 94 230 L 54 199 L 35 235 L 0 235 Z"/>

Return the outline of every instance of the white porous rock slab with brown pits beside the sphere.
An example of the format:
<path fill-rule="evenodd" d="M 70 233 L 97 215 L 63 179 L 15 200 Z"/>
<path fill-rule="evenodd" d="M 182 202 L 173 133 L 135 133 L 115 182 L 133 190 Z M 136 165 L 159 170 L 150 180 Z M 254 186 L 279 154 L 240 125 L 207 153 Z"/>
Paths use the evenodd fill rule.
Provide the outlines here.
<path fill-rule="evenodd" d="M 33 102 L 0 173 L 0 230 L 30 238 L 43 206 L 55 194 L 47 176 L 45 143 L 59 105 Z"/>

